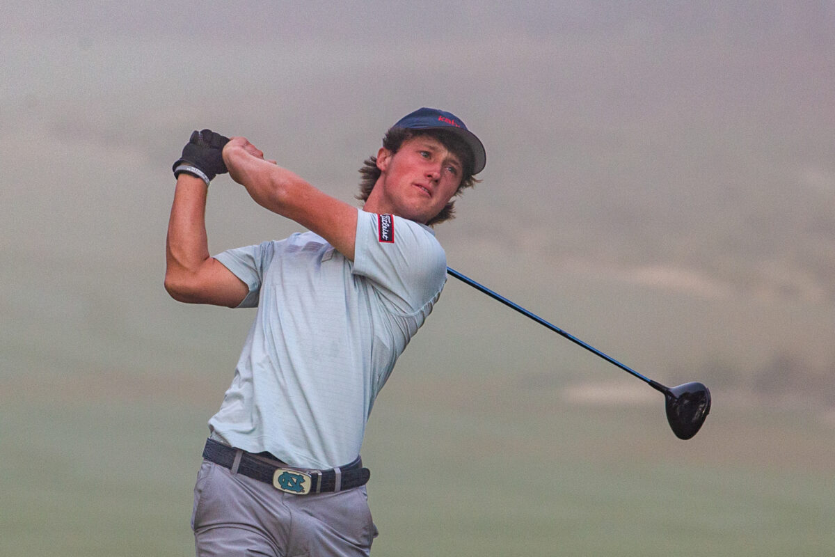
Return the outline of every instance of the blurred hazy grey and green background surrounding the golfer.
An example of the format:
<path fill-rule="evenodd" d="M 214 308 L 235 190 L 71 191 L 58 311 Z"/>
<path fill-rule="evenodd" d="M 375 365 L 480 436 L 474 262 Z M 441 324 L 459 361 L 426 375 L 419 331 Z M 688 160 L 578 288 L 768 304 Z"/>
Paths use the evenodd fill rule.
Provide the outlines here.
<path fill-rule="evenodd" d="M 354 203 L 421 106 L 486 145 L 458 271 L 377 399 L 382 555 L 835 553 L 835 3 L 0 7 L 0 554 L 193 554 L 252 310 L 163 289 L 171 164 L 245 135 Z M 299 230 L 228 177 L 210 251 Z"/>

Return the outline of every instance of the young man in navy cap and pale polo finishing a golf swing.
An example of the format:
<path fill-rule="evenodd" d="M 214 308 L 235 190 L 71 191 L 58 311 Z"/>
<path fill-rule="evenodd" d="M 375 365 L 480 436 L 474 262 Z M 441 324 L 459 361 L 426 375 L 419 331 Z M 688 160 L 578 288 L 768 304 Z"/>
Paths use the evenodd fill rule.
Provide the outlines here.
<path fill-rule="evenodd" d="M 419 109 L 365 161 L 358 210 L 244 138 L 192 134 L 174 166 L 165 288 L 179 301 L 258 308 L 209 422 L 192 514 L 198 555 L 369 553 L 367 419 L 446 281 L 427 224 L 452 216 L 484 162 L 460 119 Z M 206 196 L 226 171 L 310 231 L 211 257 Z"/>

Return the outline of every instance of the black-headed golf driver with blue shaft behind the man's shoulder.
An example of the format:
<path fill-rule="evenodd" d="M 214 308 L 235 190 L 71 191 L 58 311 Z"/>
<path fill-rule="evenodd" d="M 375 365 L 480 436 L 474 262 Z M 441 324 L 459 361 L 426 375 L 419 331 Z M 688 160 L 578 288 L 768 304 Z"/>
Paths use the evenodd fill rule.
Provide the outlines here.
<path fill-rule="evenodd" d="M 699 431 L 699 428 L 701 428 L 701 424 L 705 422 L 707 414 L 711 411 L 711 392 L 704 384 L 700 382 L 689 382 L 679 385 L 678 387 L 665 387 L 660 384 L 660 382 L 653 381 L 649 377 L 641 375 L 631 367 L 625 366 L 615 360 L 615 358 L 600 352 L 597 348 L 586 344 L 585 342 L 579 340 L 579 338 L 574 337 L 567 332 L 564 332 L 559 327 L 552 325 L 551 323 L 545 321 L 542 317 L 526 310 L 518 304 L 515 304 L 513 301 L 509 301 L 504 296 L 497 294 L 486 286 L 478 284 L 478 282 L 473 281 L 473 279 L 468 276 L 462 275 L 450 267 L 447 267 L 447 272 L 459 281 L 462 281 L 469 286 L 473 286 L 473 288 L 478 291 L 482 291 L 494 300 L 502 302 L 505 306 L 512 307 L 514 310 L 519 311 L 522 315 L 533 319 L 540 325 L 547 327 L 560 336 L 569 339 L 569 341 L 574 342 L 574 344 L 578 344 L 589 352 L 602 357 L 606 362 L 610 362 L 615 366 L 620 367 L 620 369 L 625 372 L 638 377 L 641 381 L 649 384 L 650 387 L 653 387 L 656 391 L 663 392 L 665 397 L 667 422 L 670 423 L 670 428 L 673 430 L 673 433 L 676 433 L 677 438 L 689 439 L 693 437 Z"/>

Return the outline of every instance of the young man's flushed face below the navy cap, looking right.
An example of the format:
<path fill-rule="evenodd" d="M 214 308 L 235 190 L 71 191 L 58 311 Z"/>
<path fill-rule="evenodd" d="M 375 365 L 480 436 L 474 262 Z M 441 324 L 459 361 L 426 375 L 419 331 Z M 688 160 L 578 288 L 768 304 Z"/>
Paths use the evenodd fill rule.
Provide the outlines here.
<path fill-rule="evenodd" d="M 382 174 L 366 210 L 423 223 L 443 210 L 463 177 L 458 156 L 429 135 L 403 141 L 394 154 L 380 149 L 377 168 Z"/>

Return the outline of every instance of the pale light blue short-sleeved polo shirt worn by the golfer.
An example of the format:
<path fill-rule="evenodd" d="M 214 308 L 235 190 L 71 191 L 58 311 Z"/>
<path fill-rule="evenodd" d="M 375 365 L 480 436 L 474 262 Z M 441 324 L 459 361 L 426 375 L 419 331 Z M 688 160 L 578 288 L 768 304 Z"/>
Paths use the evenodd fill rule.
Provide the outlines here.
<path fill-rule="evenodd" d="M 350 463 L 377 392 L 438 301 L 428 226 L 358 210 L 354 261 L 312 232 L 215 256 L 257 306 L 211 437 L 302 468 Z"/>

